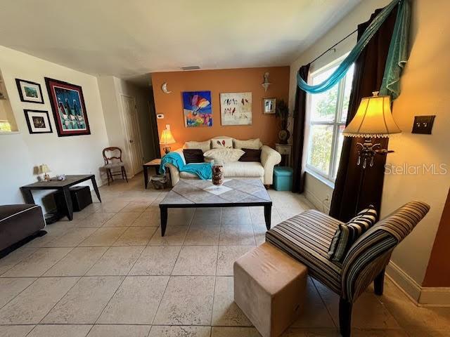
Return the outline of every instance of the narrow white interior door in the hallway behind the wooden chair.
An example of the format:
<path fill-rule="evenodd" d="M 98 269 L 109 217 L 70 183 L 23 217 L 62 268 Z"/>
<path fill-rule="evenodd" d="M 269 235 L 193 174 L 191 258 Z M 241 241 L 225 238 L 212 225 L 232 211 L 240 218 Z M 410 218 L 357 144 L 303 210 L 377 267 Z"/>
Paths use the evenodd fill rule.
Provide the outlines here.
<path fill-rule="evenodd" d="M 124 113 L 125 133 L 129 154 L 129 169 L 135 175 L 142 171 L 142 145 L 141 133 L 139 132 L 139 119 L 137 116 L 136 102 L 134 98 L 121 95 L 122 110 Z"/>

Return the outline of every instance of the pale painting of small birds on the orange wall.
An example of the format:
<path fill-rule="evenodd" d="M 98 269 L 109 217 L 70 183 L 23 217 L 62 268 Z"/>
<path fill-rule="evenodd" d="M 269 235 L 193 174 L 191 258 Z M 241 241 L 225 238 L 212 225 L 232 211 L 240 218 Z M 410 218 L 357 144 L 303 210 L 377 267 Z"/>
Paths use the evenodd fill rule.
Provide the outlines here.
<path fill-rule="evenodd" d="M 252 93 L 221 93 L 222 125 L 252 125 Z"/>

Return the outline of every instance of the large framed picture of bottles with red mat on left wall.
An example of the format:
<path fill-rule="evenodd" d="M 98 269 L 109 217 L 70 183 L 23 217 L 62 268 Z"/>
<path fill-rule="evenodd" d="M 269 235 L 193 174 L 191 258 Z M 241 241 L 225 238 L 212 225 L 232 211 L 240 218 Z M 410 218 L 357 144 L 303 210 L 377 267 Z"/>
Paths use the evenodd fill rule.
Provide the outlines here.
<path fill-rule="evenodd" d="M 81 86 L 45 77 L 59 137 L 90 135 Z"/>

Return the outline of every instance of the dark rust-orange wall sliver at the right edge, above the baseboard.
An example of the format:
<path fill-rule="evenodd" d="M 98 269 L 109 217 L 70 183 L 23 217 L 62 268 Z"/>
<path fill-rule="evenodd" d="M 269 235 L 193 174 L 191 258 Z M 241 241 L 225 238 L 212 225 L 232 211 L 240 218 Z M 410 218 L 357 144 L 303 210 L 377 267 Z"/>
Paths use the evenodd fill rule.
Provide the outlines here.
<path fill-rule="evenodd" d="M 423 286 L 450 286 L 450 190 L 437 228 Z"/>

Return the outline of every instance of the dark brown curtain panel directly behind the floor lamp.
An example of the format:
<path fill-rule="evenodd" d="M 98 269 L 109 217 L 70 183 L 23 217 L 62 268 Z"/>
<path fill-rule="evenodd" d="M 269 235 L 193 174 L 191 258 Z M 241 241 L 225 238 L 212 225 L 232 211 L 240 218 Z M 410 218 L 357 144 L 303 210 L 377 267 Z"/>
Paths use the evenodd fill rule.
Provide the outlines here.
<path fill-rule="evenodd" d="M 358 26 L 358 39 L 375 16 L 380 13 L 375 11 L 368 22 Z M 358 110 L 361 98 L 371 96 L 373 91 L 378 91 L 383 81 L 387 52 L 389 50 L 392 32 L 394 30 L 397 9 L 394 8 L 378 32 L 368 43 L 358 60 L 355 62 L 352 93 L 350 95 L 349 113 L 346 125 L 352 120 Z M 348 221 L 354 216 L 356 198 L 359 189 L 362 167 L 356 165 L 356 143 L 362 143 L 363 138 L 344 138 L 340 157 L 338 176 L 335 181 L 335 190 L 331 199 L 330 216 L 341 221 Z M 387 148 L 387 138 L 374 138 L 373 143 L 381 143 Z M 361 190 L 361 199 L 358 209 L 364 209 L 373 204 L 380 211 L 381 195 L 383 192 L 383 180 L 385 173 L 386 157 L 377 155 L 373 167 L 368 166 L 366 177 Z"/>

